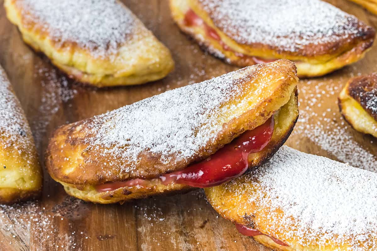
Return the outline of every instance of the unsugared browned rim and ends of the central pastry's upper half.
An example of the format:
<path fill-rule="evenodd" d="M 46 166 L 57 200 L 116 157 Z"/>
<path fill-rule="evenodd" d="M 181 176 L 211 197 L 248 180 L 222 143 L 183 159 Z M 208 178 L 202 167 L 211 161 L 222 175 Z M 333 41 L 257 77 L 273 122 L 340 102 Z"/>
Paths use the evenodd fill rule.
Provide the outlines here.
<path fill-rule="evenodd" d="M 145 157 L 140 157 L 141 161 L 138 162 L 133 172 L 121 172 L 119 167 L 127 167 L 129 163 L 124 163 L 124 161 L 120 159 L 114 159 L 110 155 L 92 158 L 90 156 L 95 156 L 98 151 L 102 151 L 93 148 L 93 150 L 89 150 L 93 152 L 92 154 L 86 150 L 89 146 L 86 139 L 87 137 L 93 136 L 86 129 L 86 127 L 92 123 L 93 118 L 91 118 L 70 125 L 63 125 L 54 132 L 46 151 L 46 168 L 50 175 L 55 176 L 64 183 L 77 185 L 102 184 L 108 181 L 154 178 L 161 173 L 182 170 L 191 163 L 205 159 L 218 151 L 218 149 L 225 144 L 230 143 L 244 131 L 254 129 L 267 121 L 275 111 L 279 110 L 280 107 L 288 102 L 297 83 L 296 67 L 288 60 L 279 60 L 270 64 L 260 64 L 251 68 L 247 67 L 241 71 L 247 71 L 245 77 L 251 76 L 251 74 L 256 75 L 253 81 L 244 81 L 242 83 L 244 88 L 251 88 L 250 86 L 257 84 L 255 81 L 257 81 L 258 78 L 265 79 L 265 74 L 270 75 L 272 79 L 269 87 L 271 95 L 268 97 L 262 96 L 260 103 L 252 105 L 252 110 L 243 108 L 243 110 L 245 110 L 242 111 L 243 114 L 224 124 L 223 129 L 214 137 L 215 140 L 212 143 L 206 143 L 205 146 L 202 147 L 202 150 L 199 150 L 197 154 L 187 160 L 181 160 L 179 162 L 170 161 L 170 163 L 164 164 L 160 163 L 161 160 L 159 156 L 151 156 L 148 152 L 142 152 L 140 156 L 143 157 L 145 155 Z M 244 93 L 242 95 L 253 94 Z M 241 96 L 237 97 L 237 99 L 240 98 Z M 233 100 L 232 102 L 236 101 Z M 108 120 L 111 118 L 106 117 L 104 119 Z M 84 156 L 85 159 L 83 160 L 80 157 L 84 163 L 75 162 L 74 164 L 70 164 L 72 161 L 76 161 L 75 159 L 78 153 L 84 150 L 86 152 Z M 68 161 L 66 157 L 69 156 L 74 156 L 74 158 L 69 158 L 69 168 L 72 167 L 73 170 L 71 170 L 69 174 L 65 174 L 62 168 L 67 167 Z M 111 166 L 103 165 L 103 162 L 106 162 L 106 158 L 109 158 L 107 162 L 109 162 L 111 158 L 113 163 Z"/>

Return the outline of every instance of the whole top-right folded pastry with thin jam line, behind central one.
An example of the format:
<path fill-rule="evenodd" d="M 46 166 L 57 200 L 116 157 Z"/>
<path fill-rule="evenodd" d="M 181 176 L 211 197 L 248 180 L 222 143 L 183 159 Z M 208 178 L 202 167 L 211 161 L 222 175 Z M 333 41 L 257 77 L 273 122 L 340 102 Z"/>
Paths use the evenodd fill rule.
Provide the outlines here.
<path fill-rule="evenodd" d="M 205 50 L 239 66 L 289 59 L 299 77 L 363 58 L 375 30 L 320 0 L 170 0 L 173 19 Z"/>

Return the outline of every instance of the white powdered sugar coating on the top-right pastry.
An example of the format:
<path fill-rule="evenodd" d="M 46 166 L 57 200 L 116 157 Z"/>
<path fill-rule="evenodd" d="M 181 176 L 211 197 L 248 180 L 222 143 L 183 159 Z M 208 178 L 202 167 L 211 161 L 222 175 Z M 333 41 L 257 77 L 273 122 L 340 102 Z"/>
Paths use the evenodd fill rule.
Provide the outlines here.
<path fill-rule="evenodd" d="M 199 0 L 215 25 L 241 44 L 295 52 L 363 32 L 356 17 L 320 0 Z"/>

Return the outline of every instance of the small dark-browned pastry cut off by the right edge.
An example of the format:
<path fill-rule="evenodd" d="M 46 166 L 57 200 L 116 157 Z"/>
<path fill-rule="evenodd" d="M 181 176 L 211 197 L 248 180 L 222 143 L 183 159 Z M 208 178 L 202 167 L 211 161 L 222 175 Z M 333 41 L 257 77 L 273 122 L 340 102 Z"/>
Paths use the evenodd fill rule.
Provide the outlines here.
<path fill-rule="evenodd" d="M 338 105 L 354 129 L 377 137 L 377 74 L 350 79 L 339 94 Z"/>

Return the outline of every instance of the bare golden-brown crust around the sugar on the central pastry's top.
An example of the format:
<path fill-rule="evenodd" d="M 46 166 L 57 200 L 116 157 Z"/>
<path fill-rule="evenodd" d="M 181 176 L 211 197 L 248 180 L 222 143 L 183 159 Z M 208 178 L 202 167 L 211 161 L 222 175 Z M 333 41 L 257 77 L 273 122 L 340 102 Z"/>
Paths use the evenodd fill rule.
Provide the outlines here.
<path fill-rule="evenodd" d="M 222 109 L 227 110 L 228 106 L 234 107 L 233 105 L 237 105 L 245 99 L 254 100 L 254 102 L 248 102 L 242 107 L 237 106 L 238 116 L 235 115 L 236 113 L 221 114 L 222 117 L 219 117 L 220 120 L 218 120 L 224 121 L 221 123 L 221 131 L 213 137 L 211 142 L 207 141 L 198 152 L 188 158 L 177 159 L 175 154 L 170 154 L 168 156 L 171 161 L 164 163 L 158 155 L 144 151 L 137 154 L 140 160 L 133 167 L 133 163 L 127 161 L 126 158 L 114 158 L 111 154 L 103 154 L 106 149 L 103 146 L 90 146 L 88 139 L 97 134 L 96 130 L 89 130 L 91 126 L 96 123 L 107 124 L 113 120 L 112 116 L 114 115 L 105 114 L 100 119 L 94 117 L 61 126 L 55 131 L 46 153 L 46 167 L 49 173 L 64 183 L 101 184 L 133 178 L 154 178 L 162 173 L 184 169 L 190 163 L 207 158 L 244 131 L 256 128 L 267 121 L 275 111 L 288 102 L 297 83 L 294 64 L 284 60 L 244 68 L 230 74 L 237 76 L 242 74 L 244 79 L 232 80 L 234 83 L 238 83 L 240 92 L 234 93 L 234 98 L 225 103 Z M 259 93 L 263 83 L 268 83 L 268 85 L 262 93 Z M 182 91 L 184 90 L 182 89 Z M 181 90 L 177 89 L 177 91 Z M 168 95 L 168 93 L 164 95 Z M 128 112 L 132 113 L 131 110 Z M 154 137 L 158 137 L 158 135 Z M 126 166 L 126 168 L 122 169 L 121 166 Z"/>

